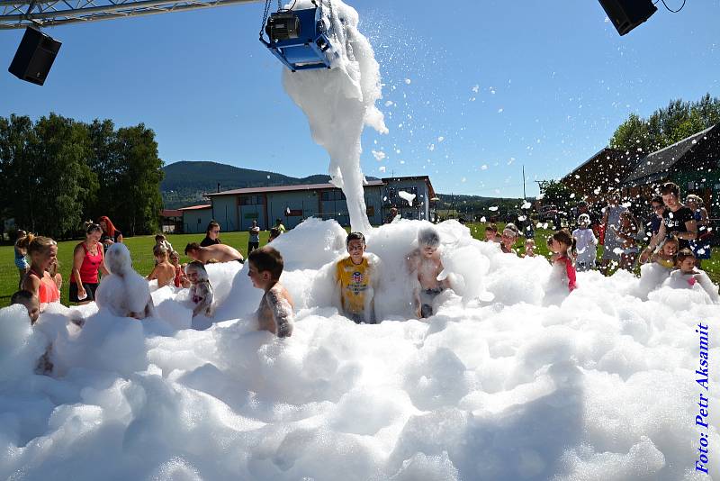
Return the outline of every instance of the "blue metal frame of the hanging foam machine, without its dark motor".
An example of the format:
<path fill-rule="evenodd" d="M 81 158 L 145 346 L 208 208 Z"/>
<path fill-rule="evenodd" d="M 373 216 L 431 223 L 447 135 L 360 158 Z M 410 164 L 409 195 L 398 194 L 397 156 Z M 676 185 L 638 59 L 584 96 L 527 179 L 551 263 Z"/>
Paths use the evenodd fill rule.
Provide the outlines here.
<path fill-rule="evenodd" d="M 320 8 L 293 10 L 293 14 L 300 20 L 300 37 L 283 41 L 270 39 L 269 42 L 260 37 L 260 41 L 293 72 L 330 68 L 330 62 L 337 54 L 330 48 L 329 29 Z"/>

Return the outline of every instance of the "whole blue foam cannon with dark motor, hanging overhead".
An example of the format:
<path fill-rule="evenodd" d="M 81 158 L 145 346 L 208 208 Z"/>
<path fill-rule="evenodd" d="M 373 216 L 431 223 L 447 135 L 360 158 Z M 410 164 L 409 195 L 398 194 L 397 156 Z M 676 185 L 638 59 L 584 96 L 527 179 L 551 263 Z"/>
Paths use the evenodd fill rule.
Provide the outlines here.
<path fill-rule="evenodd" d="M 322 17 L 322 7 L 303 10 L 281 10 L 270 14 L 260 41 L 293 72 L 311 68 L 330 68 L 337 54 L 332 48 L 328 21 Z"/>

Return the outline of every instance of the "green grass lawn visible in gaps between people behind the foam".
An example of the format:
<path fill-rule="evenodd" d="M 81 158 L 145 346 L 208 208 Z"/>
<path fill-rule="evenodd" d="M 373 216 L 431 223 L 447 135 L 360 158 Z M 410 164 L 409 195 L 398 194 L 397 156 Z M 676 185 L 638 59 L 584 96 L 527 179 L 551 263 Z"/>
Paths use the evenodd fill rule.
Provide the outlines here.
<path fill-rule="evenodd" d="M 484 223 L 469 223 L 466 224 L 470 229 L 475 239 L 483 240 L 485 238 L 485 225 Z M 503 224 L 498 224 L 498 227 L 502 229 Z M 545 257 L 549 256 L 545 239 L 550 235 L 552 231 L 539 229 L 536 231 L 536 253 Z M 260 245 L 265 245 L 269 231 L 260 232 Z M 175 250 L 180 252 L 180 261 L 187 262 L 187 259 L 183 250 L 188 242 L 200 242 L 202 241 L 202 234 L 178 234 L 168 235 L 167 240 L 173 244 Z M 229 244 L 235 249 L 239 250 L 244 257 L 247 257 L 247 232 L 222 232 L 220 239 L 225 244 Z M 521 238 L 524 239 L 524 238 Z M 58 260 L 60 264 L 60 272 L 64 280 L 62 288 L 61 302 L 68 304 L 67 300 L 67 283 L 70 278 L 70 268 L 72 266 L 73 250 L 79 241 L 64 241 L 58 243 Z M 152 248 L 155 245 L 155 236 L 139 236 L 130 237 L 125 239 L 125 244 L 130 249 L 132 256 L 133 267 L 143 276 L 147 276 L 155 265 L 155 259 L 152 256 Z M 524 247 L 521 241 L 518 241 L 516 245 L 518 254 L 524 252 Z M 599 251 L 599 256 L 601 251 Z M 706 260 L 703 262 L 702 268 L 705 270 L 713 279 L 716 284 L 720 283 L 720 261 L 717 257 L 720 255 L 720 251 L 717 248 L 713 248 L 713 259 Z M 13 246 L 2 246 L 0 247 L 0 307 L 10 304 L 10 297 L 17 290 L 17 285 L 20 280 L 18 276 L 17 268 L 14 264 L 14 252 Z"/>

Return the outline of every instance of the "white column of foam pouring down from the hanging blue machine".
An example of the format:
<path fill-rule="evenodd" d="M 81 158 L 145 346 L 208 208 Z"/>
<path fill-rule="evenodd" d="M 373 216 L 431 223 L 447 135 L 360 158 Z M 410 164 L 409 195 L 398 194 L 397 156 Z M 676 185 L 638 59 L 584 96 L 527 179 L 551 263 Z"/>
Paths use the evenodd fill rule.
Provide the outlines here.
<path fill-rule="evenodd" d="M 296 10 L 314 7 L 311 0 L 298 0 L 287 7 L 290 5 Z M 356 10 L 341 0 L 332 0 L 332 8 L 327 2 L 323 5 L 323 15 L 335 32 L 337 58 L 330 70 L 293 73 L 284 68 L 283 83 L 288 95 L 307 115 L 312 139 L 328 150 L 329 175 L 347 197 L 353 230 L 368 232 L 360 136 L 365 125 L 387 132 L 383 113 L 375 106 L 382 97 L 380 66 L 370 42 L 357 29 Z"/>

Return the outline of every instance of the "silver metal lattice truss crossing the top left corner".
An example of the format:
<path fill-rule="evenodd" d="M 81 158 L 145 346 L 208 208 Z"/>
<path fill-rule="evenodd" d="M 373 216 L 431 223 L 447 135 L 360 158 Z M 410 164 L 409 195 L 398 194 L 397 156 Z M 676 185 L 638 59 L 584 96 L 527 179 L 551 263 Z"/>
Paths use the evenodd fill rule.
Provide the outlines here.
<path fill-rule="evenodd" d="M 0 30 L 185 12 L 264 0 L 0 0 Z"/>

